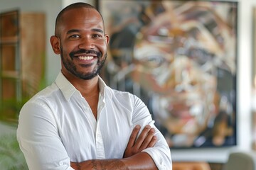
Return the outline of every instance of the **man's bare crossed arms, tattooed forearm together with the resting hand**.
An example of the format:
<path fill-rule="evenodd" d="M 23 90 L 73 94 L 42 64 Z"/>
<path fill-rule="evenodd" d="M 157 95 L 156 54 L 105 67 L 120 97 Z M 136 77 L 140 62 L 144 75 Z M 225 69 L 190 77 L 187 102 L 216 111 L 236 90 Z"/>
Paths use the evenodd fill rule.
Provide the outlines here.
<path fill-rule="evenodd" d="M 80 163 L 71 162 L 71 167 L 75 170 L 157 169 L 149 154 L 142 152 L 143 149 L 154 147 L 156 144 L 155 130 L 150 125 L 146 125 L 137 138 L 139 130 L 140 126 L 137 125 L 132 131 L 123 159 L 92 159 Z"/>

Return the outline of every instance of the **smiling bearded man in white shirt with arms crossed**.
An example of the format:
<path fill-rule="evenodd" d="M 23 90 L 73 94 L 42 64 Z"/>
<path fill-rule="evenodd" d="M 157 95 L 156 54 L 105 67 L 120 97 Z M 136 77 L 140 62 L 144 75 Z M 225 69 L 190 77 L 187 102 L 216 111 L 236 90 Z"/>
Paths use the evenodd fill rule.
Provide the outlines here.
<path fill-rule="evenodd" d="M 171 169 L 169 147 L 144 103 L 98 76 L 108 42 L 93 6 L 71 4 L 58 14 L 50 43 L 61 72 L 18 120 L 29 169 Z"/>

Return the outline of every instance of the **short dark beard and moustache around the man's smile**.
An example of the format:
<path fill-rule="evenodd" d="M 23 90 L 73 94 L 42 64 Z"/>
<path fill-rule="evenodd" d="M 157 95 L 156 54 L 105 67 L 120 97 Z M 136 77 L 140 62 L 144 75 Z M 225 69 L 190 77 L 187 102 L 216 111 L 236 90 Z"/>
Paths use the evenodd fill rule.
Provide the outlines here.
<path fill-rule="evenodd" d="M 73 64 L 72 60 L 73 60 L 75 54 L 80 54 L 80 53 L 96 54 L 97 58 L 98 58 L 97 69 L 95 69 L 92 72 L 87 73 L 87 74 L 78 72 L 75 65 Z M 70 52 L 69 56 L 70 56 L 71 60 L 65 60 L 63 57 L 62 47 L 60 47 L 60 57 L 61 57 L 61 60 L 63 62 L 65 69 L 67 69 L 70 73 L 75 75 L 75 77 L 78 77 L 79 79 L 84 79 L 84 80 L 90 80 L 90 79 L 96 77 L 98 74 L 100 74 L 100 70 L 102 69 L 102 67 L 107 59 L 107 54 L 105 54 L 104 60 L 100 61 L 100 58 L 102 57 L 102 53 L 96 52 L 94 50 L 79 50 L 76 52 Z M 90 67 L 90 64 L 83 64 L 82 67 Z"/>

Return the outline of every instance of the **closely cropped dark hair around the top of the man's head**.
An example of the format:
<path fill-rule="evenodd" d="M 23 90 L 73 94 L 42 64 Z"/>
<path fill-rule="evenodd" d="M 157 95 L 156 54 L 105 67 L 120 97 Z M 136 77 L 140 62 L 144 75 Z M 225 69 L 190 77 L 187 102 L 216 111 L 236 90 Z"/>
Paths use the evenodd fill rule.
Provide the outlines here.
<path fill-rule="evenodd" d="M 65 8 L 63 8 L 63 10 L 60 11 L 60 13 L 58 13 L 58 16 L 56 18 L 56 21 L 55 21 L 55 35 L 56 36 L 60 36 L 58 28 L 60 27 L 61 23 L 63 22 L 63 14 L 66 13 L 67 11 L 70 11 L 71 9 L 75 9 L 75 8 L 91 8 L 91 9 L 95 9 L 95 11 L 97 11 L 97 8 L 95 8 L 95 6 L 92 6 L 90 4 L 83 3 L 83 2 L 78 2 L 78 3 L 70 4 L 69 6 L 66 6 Z M 100 13 L 99 11 L 97 11 L 97 12 Z M 100 13 L 100 16 L 103 21 L 103 17 L 101 15 L 101 13 Z M 103 21 L 103 26 L 104 26 L 104 21 Z"/>

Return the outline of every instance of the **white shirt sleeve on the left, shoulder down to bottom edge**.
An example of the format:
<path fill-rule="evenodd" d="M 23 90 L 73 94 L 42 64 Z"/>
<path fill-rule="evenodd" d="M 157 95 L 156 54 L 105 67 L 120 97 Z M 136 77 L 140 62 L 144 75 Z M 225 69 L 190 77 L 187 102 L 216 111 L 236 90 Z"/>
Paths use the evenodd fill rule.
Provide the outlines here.
<path fill-rule="evenodd" d="M 17 140 L 29 169 L 73 169 L 46 104 L 28 102 L 23 106 L 18 118 Z"/>

